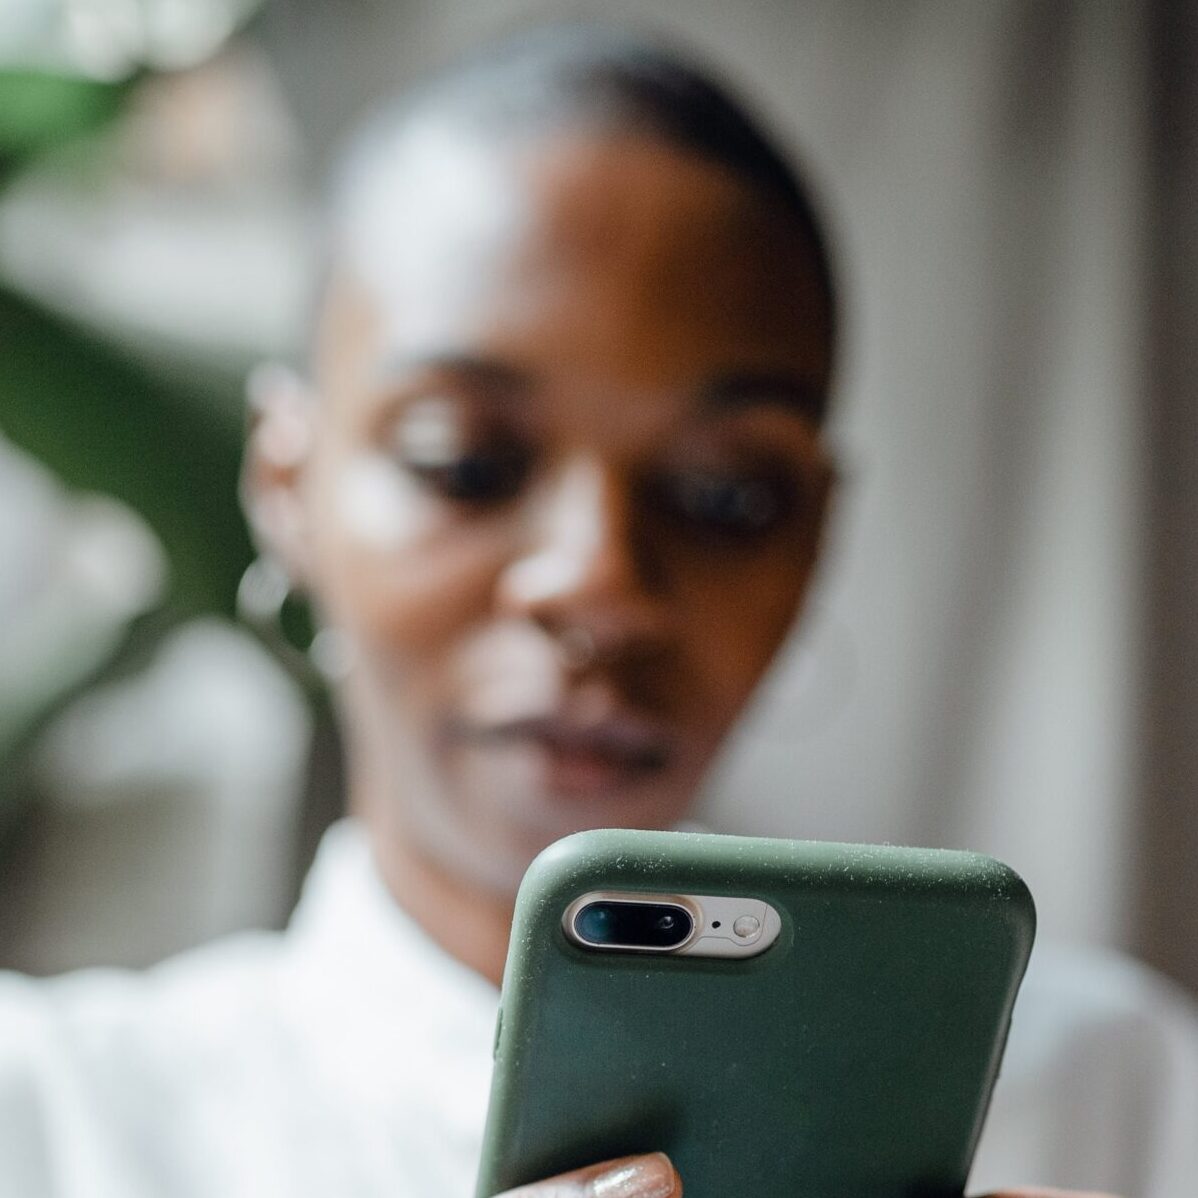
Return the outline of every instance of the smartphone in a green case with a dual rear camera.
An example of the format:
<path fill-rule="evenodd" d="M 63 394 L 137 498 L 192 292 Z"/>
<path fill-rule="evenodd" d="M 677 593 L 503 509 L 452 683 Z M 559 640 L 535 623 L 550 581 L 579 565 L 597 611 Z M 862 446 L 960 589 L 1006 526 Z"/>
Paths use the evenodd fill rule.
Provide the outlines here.
<path fill-rule="evenodd" d="M 980 854 L 568 836 L 516 901 L 478 1198 L 651 1151 L 686 1198 L 960 1198 L 1034 931 Z"/>

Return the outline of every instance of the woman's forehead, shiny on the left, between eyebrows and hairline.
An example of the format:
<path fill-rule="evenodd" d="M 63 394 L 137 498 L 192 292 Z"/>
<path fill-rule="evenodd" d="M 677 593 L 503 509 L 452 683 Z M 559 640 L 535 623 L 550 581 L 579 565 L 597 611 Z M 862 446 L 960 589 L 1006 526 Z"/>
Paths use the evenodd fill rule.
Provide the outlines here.
<path fill-rule="evenodd" d="M 352 295 L 365 309 L 359 353 L 498 347 L 563 367 L 683 368 L 739 355 L 827 370 L 810 248 L 703 159 L 629 137 L 425 133 L 363 188 L 341 249 L 355 285 L 327 304 Z"/>

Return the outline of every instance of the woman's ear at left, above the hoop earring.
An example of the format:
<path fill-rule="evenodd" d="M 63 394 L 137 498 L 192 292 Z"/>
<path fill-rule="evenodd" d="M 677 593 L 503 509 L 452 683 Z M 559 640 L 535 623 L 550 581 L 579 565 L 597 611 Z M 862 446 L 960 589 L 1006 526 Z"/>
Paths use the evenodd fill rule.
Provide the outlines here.
<path fill-rule="evenodd" d="M 277 363 L 256 367 L 246 394 L 249 432 L 241 471 L 242 508 L 259 552 L 304 586 L 311 563 L 303 482 L 315 395 L 295 370 Z"/>

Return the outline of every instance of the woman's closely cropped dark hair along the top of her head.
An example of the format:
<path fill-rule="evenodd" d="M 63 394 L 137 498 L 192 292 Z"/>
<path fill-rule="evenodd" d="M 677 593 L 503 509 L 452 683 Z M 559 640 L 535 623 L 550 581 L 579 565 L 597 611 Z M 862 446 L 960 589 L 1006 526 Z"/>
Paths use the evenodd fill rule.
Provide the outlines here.
<path fill-rule="evenodd" d="M 718 164 L 795 220 L 812 252 L 835 344 L 836 285 L 809 187 L 750 108 L 673 47 L 627 30 L 568 23 L 526 30 L 455 60 L 380 109 L 351 141 L 333 180 L 334 223 L 361 176 L 426 117 L 483 133 L 630 133 Z M 816 416 L 822 419 L 823 409 Z"/>

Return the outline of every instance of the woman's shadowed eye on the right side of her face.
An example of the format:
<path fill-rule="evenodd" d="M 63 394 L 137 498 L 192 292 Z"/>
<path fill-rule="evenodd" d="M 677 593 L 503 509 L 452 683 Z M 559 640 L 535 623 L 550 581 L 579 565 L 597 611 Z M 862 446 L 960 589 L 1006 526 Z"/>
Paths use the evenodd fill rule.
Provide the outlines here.
<path fill-rule="evenodd" d="M 794 508 L 795 486 L 764 474 L 680 470 L 660 478 L 658 498 L 686 524 L 716 534 L 754 537 L 785 520 Z"/>

